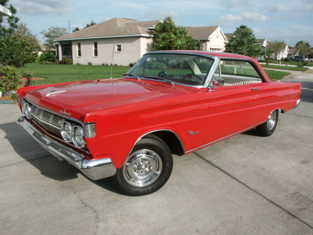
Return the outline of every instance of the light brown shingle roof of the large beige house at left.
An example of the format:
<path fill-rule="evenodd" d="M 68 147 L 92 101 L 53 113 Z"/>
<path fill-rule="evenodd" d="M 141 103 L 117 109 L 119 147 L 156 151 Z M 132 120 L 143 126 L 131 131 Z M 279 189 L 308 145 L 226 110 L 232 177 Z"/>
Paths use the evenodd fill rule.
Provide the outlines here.
<path fill-rule="evenodd" d="M 94 24 L 55 40 L 79 40 L 87 38 L 113 38 L 127 36 L 152 37 L 152 31 L 159 20 L 138 21 L 116 17 L 99 24 Z"/>

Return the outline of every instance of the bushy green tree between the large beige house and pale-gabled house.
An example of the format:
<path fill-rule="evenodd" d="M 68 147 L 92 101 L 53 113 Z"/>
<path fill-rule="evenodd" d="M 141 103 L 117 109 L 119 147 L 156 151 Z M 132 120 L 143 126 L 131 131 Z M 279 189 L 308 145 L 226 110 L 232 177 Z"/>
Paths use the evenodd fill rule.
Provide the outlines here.
<path fill-rule="evenodd" d="M 186 27 L 177 26 L 172 17 L 157 23 L 154 35 L 154 50 L 200 50 L 201 45 L 188 34 Z"/>

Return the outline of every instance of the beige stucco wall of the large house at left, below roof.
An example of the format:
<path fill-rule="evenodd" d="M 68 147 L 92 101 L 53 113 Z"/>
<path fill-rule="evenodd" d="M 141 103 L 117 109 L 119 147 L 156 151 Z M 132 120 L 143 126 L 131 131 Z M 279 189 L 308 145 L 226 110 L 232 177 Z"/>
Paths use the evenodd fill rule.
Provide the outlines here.
<path fill-rule="evenodd" d="M 97 56 L 94 56 L 94 43 L 97 43 Z M 81 43 L 81 56 L 78 56 L 78 43 Z M 61 43 L 59 43 L 61 45 Z M 120 52 L 117 50 L 120 45 Z M 125 38 L 98 38 L 72 41 L 73 63 L 93 65 L 113 64 L 118 66 L 129 66 L 129 63 L 137 62 L 141 56 L 152 50 L 151 38 L 125 37 Z M 59 46 L 60 60 L 61 46 Z"/>

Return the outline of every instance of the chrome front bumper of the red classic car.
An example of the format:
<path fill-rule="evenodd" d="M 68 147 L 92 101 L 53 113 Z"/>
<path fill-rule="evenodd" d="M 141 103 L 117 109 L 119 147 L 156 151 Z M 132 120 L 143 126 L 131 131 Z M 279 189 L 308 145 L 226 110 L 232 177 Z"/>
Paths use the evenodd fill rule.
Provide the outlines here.
<path fill-rule="evenodd" d="M 88 178 L 93 179 L 104 179 L 113 176 L 116 172 L 115 166 L 111 158 L 102 158 L 98 160 L 87 160 L 86 156 L 82 153 L 78 153 L 67 146 L 56 142 L 47 135 L 40 132 L 35 128 L 24 116 L 17 120 L 17 124 L 22 126 L 29 134 L 37 140 L 37 142 L 44 148 L 54 155 L 58 160 L 66 160 L 74 167 L 77 167 L 83 174 Z"/>

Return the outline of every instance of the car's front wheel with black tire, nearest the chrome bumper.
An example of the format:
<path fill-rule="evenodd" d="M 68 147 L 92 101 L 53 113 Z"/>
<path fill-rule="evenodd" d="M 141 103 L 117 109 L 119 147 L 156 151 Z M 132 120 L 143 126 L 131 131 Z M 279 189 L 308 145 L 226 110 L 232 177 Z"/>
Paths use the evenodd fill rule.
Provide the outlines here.
<path fill-rule="evenodd" d="M 115 185 L 126 195 L 156 192 L 172 173 L 172 153 L 155 135 L 146 135 L 134 146 L 125 164 L 113 176 Z"/>

